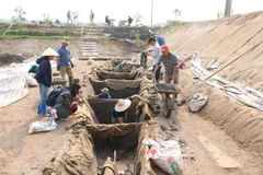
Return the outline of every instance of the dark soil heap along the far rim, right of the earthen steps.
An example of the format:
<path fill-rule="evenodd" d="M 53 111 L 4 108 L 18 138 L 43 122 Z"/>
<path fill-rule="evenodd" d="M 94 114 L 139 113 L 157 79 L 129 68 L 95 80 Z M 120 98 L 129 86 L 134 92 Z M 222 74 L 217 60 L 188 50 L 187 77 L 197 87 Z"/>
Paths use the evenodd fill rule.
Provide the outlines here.
<path fill-rule="evenodd" d="M 141 40 L 147 40 L 155 34 L 147 27 L 107 27 L 102 32 L 110 34 L 110 37 L 116 37 L 118 39 L 136 39 L 135 36 L 130 35 L 132 32 L 139 33 Z"/>

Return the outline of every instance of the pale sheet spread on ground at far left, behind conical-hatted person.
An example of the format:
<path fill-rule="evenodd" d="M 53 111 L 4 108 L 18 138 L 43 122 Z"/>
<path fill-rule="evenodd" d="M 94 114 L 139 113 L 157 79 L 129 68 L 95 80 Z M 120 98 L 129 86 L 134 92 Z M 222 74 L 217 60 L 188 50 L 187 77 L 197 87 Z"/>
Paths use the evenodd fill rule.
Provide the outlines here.
<path fill-rule="evenodd" d="M 50 61 L 56 68 L 56 61 Z M 28 94 L 26 77 L 35 60 L 25 63 L 12 63 L 9 68 L 0 69 L 0 108 L 8 106 Z"/>

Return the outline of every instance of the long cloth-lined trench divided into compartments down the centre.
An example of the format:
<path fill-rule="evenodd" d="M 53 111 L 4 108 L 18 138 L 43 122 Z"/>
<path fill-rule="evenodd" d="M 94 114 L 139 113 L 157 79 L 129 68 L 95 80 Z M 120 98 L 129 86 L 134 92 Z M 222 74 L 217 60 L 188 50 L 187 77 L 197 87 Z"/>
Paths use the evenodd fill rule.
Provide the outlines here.
<path fill-rule="evenodd" d="M 84 74 L 83 84 L 81 105 L 68 128 L 71 130 L 69 145 L 50 161 L 43 174 L 101 174 L 108 165 L 105 161 L 111 158 L 116 160 L 117 171 L 162 175 L 158 167 L 152 166 L 147 156 L 149 148 L 142 143 L 144 139 L 159 139 L 151 107 L 151 102 L 156 101 L 148 93 L 152 82 L 141 78 L 138 71 L 114 73 L 93 70 L 91 74 Z M 89 95 L 101 93 L 103 88 L 110 89 L 113 98 L 89 98 Z M 134 100 L 127 110 L 126 122 L 112 125 L 112 110 L 118 98 L 134 94 L 140 94 L 147 102 Z"/>

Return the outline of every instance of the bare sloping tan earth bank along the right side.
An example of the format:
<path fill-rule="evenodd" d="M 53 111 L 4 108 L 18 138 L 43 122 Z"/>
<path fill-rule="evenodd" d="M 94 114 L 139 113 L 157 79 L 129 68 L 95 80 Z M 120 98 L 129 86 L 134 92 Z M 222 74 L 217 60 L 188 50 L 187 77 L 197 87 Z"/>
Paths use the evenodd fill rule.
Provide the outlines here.
<path fill-rule="evenodd" d="M 163 31 L 171 51 L 175 55 L 198 52 L 203 67 L 217 58 L 221 67 L 241 56 L 218 75 L 263 91 L 263 12 L 237 15 L 213 22 L 187 23 Z M 253 48 L 256 46 L 255 48 Z M 190 68 L 190 62 L 187 68 Z M 216 71 L 216 70 L 214 70 Z M 262 112 L 241 104 L 222 91 L 194 79 L 190 69 L 180 72 L 180 85 L 186 98 L 202 92 L 209 95 L 207 106 L 199 113 L 221 126 L 230 136 L 249 147 L 263 151 Z"/>

